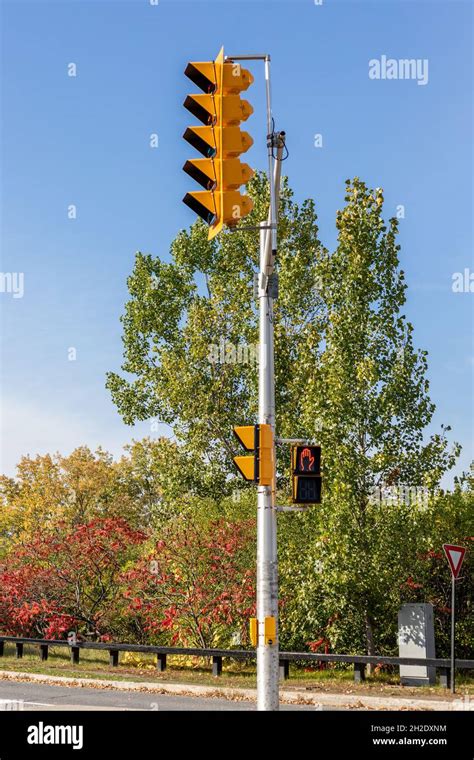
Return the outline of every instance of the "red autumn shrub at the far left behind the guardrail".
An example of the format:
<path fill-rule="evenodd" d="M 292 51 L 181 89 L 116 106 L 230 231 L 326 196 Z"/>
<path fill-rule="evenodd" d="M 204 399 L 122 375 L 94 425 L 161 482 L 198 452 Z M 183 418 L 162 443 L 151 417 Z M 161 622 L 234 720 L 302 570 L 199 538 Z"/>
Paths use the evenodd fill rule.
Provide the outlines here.
<path fill-rule="evenodd" d="M 66 638 L 71 628 L 93 638 L 108 633 L 119 575 L 145 538 L 121 518 L 39 531 L 0 566 L 0 630 L 41 638 Z"/>

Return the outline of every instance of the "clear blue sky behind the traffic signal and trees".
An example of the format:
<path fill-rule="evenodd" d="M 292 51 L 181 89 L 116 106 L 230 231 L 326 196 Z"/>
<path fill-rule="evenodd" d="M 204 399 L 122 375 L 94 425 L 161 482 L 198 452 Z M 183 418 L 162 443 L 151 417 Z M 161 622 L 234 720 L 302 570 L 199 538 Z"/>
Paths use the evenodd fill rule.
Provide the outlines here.
<path fill-rule="evenodd" d="M 192 122 L 182 102 L 193 90 L 183 71 L 221 45 L 271 53 L 285 171 L 297 200 L 315 198 L 326 245 L 348 177 L 384 188 L 387 217 L 405 207 L 406 313 L 429 351 L 431 430 L 452 425 L 464 447 L 456 471 L 467 469 L 474 294 L 454 293 L 452 277 L 474 270 L 468 0 L 4 0 L 1 9 L 2 271 L 24 273 L 22 298 L 0 293 L 4 471 L 23 453 L 87 443 L 118 454 L 150 434 L 149 423 L 122 423 L 105 373 L 121 363 L 135 251 L 166 258 L 194 219 L 181 202 L 192 185 L 181 171 Z M 369 60 L 382 55 L 427 59 L 427 84 L 370 79 Z M 255 144 L 245 160 L 263 169 L 261 64 L 252 71 Z"/>

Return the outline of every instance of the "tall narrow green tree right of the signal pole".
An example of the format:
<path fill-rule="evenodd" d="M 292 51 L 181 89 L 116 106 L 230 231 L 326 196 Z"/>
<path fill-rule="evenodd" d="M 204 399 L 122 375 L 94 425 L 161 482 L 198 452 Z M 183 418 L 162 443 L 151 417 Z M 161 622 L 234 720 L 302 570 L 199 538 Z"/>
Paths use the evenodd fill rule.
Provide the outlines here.
<path fill-rule="evenodd" d="M 416 530 L 413 510 L 403 503 L 381 508 L 374 488 L 432 490 L 459 447 L 448 450 L 449 428 L 424 438 L 435 406 L 427 352 L 415 349 L 413 326 L 402 313 L 406 283 L 397 220 L 385 224 L 382 190 L 357 178 L 346 188 L 337 247 L 319 268 L 327 326 L 305 420 L 312 434 L 317 417 L 324 451 L 326 591 L 341 615 L 355 618 L 355 630 L 365 631 L 367 651 L 374 653 L 384 579 L 389 588 L 394 565 L 408 562 Z"/>

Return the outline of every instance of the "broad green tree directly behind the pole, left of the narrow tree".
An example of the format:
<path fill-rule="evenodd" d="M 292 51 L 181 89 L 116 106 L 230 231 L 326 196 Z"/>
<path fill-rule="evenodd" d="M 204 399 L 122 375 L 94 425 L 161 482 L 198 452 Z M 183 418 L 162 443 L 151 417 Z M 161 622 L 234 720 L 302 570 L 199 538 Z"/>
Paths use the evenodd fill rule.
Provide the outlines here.
<path fill-rule="evenodd" d="M 266 218 L 268 185 L 256 175 L 246 224 Z M 290 430 L 313 372 L 322 304 L 315 290 L 320 250 L 312 201 L 301 207 L 285 182 L 279 221 L 281 297 L 275 309 L 279 429 Z M 207 241 L 200 221 L 171 245 L 171 261 L 138 253 L 122 317 L 126 376 L 107 386 L 126 423 L 157 417 L 200 458 L 214 495 L 229 493 L 232 428 L 256 418 L 258 235 Z"/>

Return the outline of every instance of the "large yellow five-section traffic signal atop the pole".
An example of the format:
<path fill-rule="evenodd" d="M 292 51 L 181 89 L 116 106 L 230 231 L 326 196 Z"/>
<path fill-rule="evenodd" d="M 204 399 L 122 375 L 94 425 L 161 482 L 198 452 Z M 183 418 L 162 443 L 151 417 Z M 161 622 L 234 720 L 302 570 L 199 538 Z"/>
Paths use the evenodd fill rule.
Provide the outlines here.
<path fill-rule="evenodd" d="M 253 77 L 240 64 L 225 62 L 224 48 L 215 61 L 188 63 L 185 74 L 204 94 L 188 95 L 184 101 L 202 126 L 188 127 L 183 137 L 204 158 L 190 159 L 183 168 L 204 190 L 186 193 L 183 201 L 209 225 L 211 240 L 253 208 L 252 200 L 239 192 L 254 174 L 239 159 L 253 144 L 248 132 L 240 129 L 253 113 L 250 103 L 240 97 Z"/>

